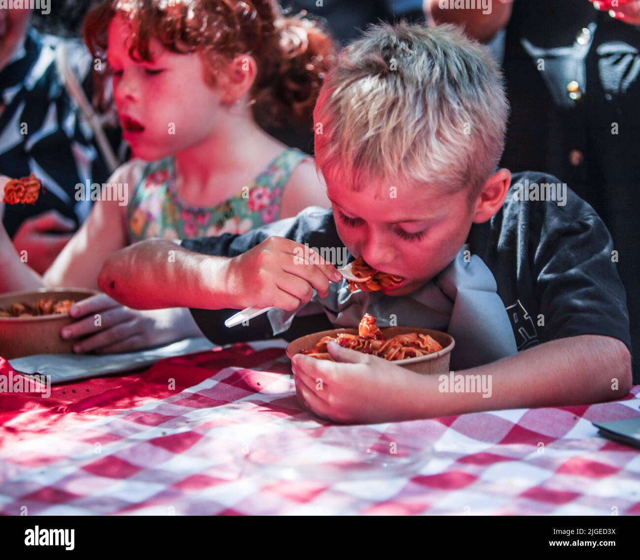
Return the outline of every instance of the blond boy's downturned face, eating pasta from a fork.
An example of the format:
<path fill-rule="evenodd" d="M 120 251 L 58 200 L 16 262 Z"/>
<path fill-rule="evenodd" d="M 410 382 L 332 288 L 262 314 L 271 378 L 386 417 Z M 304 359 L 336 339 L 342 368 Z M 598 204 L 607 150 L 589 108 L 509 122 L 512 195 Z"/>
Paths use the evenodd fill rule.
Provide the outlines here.
<path fill-rule="evenodd" d="M 474 221 L 467 190 L 443 194 L 435 187 L 375 185 L 363 191 L 328 185 L 338 235 L 351 254 L 371 267 L 404 277 L 390 296 L 415 292 L 454 259 Z"/>

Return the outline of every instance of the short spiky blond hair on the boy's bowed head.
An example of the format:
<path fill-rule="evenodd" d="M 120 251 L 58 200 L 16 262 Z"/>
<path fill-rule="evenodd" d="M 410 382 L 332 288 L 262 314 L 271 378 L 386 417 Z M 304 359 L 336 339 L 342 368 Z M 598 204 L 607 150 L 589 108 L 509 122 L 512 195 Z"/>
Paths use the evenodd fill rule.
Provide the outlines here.
<path fill-rule="evenodd" d="M 509 105 L 488 51 L 457 27 L 371 26 L 344 48 L 314 111 L 326 181 L 429 184 L 475 200 L 504 149 Z"/>

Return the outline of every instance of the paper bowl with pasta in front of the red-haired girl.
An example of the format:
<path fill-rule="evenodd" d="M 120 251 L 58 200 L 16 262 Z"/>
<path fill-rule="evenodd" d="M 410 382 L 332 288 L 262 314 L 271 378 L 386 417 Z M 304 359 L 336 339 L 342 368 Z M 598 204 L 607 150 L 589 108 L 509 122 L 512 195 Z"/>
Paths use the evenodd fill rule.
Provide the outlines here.
<path fill-rule="evenodd" d="M 71 354 L 74 340 L 63 340 L 62 327 L 73 322 L 68 310 L 97 294 L 84 288 L 41 288 L 0 295 L 0 356 Z"/>

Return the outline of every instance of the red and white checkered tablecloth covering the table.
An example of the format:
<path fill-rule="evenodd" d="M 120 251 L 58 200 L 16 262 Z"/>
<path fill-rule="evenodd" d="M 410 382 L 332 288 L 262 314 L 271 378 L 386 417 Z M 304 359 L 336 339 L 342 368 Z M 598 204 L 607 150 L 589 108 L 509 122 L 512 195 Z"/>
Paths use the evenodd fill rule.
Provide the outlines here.
<path fill-rule="evenodd" d="M 640 416 L 640 386 L 339 426 L 298 408 L 290 373 L 282 349 L 236 345 L 54 386 L 46 404 L 4 395 L 0 513 L 640 514 L 640 454 L 591 424 Z"/>

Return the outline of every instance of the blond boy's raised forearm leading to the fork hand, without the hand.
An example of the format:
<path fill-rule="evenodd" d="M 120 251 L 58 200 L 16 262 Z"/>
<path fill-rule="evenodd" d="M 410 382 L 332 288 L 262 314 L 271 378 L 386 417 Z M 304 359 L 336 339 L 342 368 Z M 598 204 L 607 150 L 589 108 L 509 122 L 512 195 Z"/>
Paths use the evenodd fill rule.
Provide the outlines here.
<path fill-rule="evenodd" d="M 135 309 L 222 309 L 230 306 L 223 278 L 227 261 L 151 239 L 111 254 L 98 284 L 113 299 Z"/>

